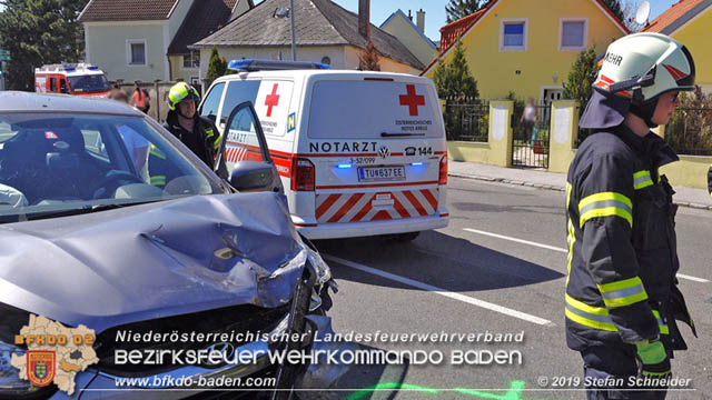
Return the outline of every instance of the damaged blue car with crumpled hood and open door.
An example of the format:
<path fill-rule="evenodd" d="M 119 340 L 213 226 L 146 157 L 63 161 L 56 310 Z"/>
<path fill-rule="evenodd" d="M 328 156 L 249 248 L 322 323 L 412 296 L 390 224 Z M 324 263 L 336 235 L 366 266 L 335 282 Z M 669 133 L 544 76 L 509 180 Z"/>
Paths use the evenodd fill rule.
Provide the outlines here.
<path fill-rule="evenodd" d="M 126 378 L 148 378 L 154 389 L 170 389 L 176 377 L 269 378 L 259 394 L 271 398 L 289 398 L 309 373 L 330 384 L 335 373 L 318 366 L 267 357 L 312 349 L 314 336 L 330 330 L 325 312 L 336 286 L 291 224 L 251 104 L 237 106 L 226 131 L 248 138 L 263 161 L 237 162 L 222 180 L 126 104 L 0 92 L 0 399 L 244 394 L 219 384 L 123 391 L 117 382 Z M 33 386 L 11 366 L 28 352 L 14 339 L 30 316 L 96 332 L 98 362 L 77 371 L 72 394 Z M 117 340 L 174 333 L 216 339 Z M 117 360 L 159 350 L 224 357 Z M 245 353 L 256 354 L 253 362 L 226 362 Z M 131 382 L 126 389 L 141 389 Z"/>

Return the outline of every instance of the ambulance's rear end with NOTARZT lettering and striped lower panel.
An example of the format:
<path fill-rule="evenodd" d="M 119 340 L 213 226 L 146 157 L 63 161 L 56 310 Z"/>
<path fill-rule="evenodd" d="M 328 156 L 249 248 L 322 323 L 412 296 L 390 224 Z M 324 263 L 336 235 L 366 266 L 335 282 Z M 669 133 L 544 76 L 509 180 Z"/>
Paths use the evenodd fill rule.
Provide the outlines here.
<path fill-rule="evenodd" d="M 431 80 L 314 76 L 306 92 L 298 157 L 314 164 L 318 226 L 443 217 L 445 131 Z"/>

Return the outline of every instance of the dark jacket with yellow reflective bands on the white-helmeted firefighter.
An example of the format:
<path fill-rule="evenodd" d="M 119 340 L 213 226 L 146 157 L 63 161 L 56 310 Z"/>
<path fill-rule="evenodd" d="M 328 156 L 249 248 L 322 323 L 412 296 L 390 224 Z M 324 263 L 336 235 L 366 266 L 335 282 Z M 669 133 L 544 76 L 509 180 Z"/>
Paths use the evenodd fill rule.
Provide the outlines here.
<path fill-rule="evenodd" d="M 571 349 L 659 336 L 669 350 L 686 349 L 675 324 L 693 327 L 676 287 L 674 191 L 657 172 L 676 160 L 656 134 L 641 138 L 624 126 L 578 148 L 566 179 Z"/>

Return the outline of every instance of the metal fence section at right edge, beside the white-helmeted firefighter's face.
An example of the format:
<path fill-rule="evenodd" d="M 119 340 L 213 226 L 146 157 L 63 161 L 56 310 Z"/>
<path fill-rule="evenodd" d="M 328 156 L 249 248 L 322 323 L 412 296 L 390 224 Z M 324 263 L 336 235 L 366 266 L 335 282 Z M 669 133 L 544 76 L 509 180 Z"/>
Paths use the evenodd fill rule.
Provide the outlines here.
<path fill-rule="evenodd" d="M 678 108 L 665 140 L 679 154 L 712 156 L 712 108 Z"/>

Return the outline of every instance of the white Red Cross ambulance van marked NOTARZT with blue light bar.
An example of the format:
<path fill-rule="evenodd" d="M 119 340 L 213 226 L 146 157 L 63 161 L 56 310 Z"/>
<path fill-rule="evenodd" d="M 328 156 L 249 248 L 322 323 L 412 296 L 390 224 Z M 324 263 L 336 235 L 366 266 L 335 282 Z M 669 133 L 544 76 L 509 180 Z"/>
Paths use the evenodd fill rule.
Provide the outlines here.
<path fill-rule="evenodd" d="M 305 237 L 412 240 L 447 226 L 445 128 L 429 79 L 288 61 L 228 68 L 244 72 L 212 82 L 199 112 L 225 133 L 230 110 L 253 102 Z M 265 161 L 261 150 L 256 136 L 228 132 L 228 170 Z"/>

